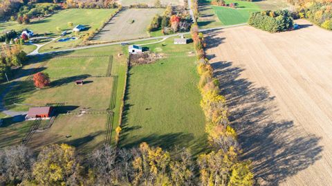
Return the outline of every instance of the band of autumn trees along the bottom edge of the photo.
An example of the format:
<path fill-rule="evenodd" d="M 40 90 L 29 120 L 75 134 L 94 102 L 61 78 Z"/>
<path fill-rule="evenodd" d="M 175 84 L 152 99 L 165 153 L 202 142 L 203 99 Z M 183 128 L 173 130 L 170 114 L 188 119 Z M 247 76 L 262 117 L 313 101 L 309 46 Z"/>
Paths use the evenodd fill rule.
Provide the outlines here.
<path fill-rule="evenodd" d="M 248 165 L 234 149 L 195 160 L 190 149 L 164 151 L 143 142 L 132 149 L 104 146 L 86 158 L 66 144 L 37 156 L 23 145 L 0 150 L 2 185 L 252 185 Z"/>

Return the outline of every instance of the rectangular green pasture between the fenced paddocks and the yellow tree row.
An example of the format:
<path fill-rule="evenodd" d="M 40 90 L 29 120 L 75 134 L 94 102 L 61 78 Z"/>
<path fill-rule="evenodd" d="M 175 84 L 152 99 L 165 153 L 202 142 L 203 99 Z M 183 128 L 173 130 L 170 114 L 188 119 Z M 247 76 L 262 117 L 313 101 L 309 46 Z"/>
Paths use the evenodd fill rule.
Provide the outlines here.
<path fill-rule="evenodd" d="M 122 147 L 148 142 L 166 149 L 191 147 L 194 153 L 204 148 L 205 119 L 199 106 L 196 57 L 190 53 L 192 44 L 175 46 L 172 41 L 147 46 L 163 53 L 164 59 L 129 71 Z"/>

